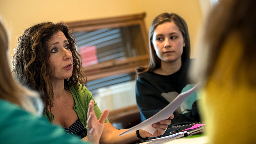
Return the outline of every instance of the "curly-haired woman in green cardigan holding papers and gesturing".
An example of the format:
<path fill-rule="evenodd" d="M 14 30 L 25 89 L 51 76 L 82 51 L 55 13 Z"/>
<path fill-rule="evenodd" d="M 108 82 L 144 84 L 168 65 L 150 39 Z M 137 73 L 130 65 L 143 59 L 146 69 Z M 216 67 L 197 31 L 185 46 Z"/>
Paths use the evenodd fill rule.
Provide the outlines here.
<path fill-rule="evenodd" d="M 102 113 L 86 89 L 81 56 L 68 26 L 61 23 L 39 23 L 25 30 L 14 49 L 12 65 L 20 83 L 42 95 L 49 121 L 64 127 L 68 134 L 99 139 L 95 143 L 132 143 L 159 136 L 173 118 L 153 124 L 153 135 L 140 130 L 138 137 L 136 132 L 119 137 L 126 130 L 109 123 L 108 110 Z"/>

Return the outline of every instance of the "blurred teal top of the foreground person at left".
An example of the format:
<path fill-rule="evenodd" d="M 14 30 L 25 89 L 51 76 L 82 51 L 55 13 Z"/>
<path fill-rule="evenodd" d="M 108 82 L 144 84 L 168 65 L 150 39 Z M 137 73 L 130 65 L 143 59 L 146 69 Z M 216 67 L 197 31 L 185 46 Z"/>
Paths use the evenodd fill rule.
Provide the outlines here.
<path fill-rule="evenodd" d="M 17 104 L 0 99 L 0 143 L 6 144 L 85 144 L 64 134 L 44 118 L 30 114 Z"/>

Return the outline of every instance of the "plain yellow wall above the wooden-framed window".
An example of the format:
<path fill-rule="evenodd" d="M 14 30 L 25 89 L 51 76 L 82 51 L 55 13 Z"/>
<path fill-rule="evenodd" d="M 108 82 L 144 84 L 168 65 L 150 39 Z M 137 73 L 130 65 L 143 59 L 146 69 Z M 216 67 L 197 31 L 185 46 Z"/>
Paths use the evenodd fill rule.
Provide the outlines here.
<path fill-rule="evenodd" d="M 73 22 L 146 12 L 147 30 L 163 12 L 182 16 L 189 27 L 191 44 L 203 16 L 201 0 L 0 0 L 2 21 L 10 34 L 10 53 L 21 33 L 41 21 Z"/>

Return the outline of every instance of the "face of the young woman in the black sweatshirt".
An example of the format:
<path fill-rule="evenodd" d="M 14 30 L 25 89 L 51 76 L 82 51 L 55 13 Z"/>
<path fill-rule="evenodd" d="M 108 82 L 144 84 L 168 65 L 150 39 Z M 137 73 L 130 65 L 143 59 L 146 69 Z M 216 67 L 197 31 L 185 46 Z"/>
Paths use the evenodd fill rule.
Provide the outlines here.
<path fill-rule="evenodd" d="M 166 22 L 156 27 L 152 43 L 156 55 L 161 61 L 181 61 L 185 42 L 179 27 L 173 22 Z"/>

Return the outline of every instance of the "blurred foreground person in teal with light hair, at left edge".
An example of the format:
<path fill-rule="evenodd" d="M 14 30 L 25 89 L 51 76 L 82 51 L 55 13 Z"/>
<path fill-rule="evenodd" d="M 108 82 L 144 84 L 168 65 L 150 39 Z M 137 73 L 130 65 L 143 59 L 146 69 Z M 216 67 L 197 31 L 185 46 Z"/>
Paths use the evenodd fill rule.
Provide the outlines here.
<path fill-rule="evenodd" d="M 43 104 L 38 94 L 17 83 L 8 63 L 8 38 L 0 16 L 0 139 L 1 143 L 85 144 L 62 128 L 42 118 Z M 94 142 L 93 139 L 82 139 Z"/>

